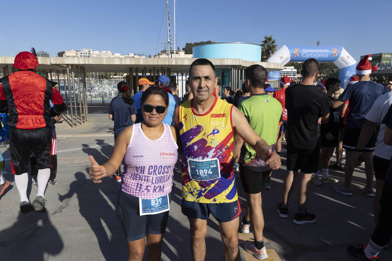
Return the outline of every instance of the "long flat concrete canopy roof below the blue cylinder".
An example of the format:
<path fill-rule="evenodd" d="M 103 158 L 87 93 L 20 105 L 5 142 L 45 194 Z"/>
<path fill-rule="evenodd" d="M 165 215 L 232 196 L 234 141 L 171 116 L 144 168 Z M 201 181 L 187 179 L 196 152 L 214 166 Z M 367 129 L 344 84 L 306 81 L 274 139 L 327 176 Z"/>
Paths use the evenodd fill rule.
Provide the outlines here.
<path fill-rule="evenodd" d="M 14 63 L 15 57 L 0 56 L 0 68 L 8 65 L 9 70 Z M 38 57 L 40 65 L 37 70 L 64 70 L 66 65 L 82 66 L 86 72 L 123 72 L 128 73 L 129 68 L 135 72 L 138 67 L 139 72 L 146 68 L 149 70 L 164 70 L 170 68 L 172 73 L 188 73 L 191 63 L 196 58 L 102 58 L 102 57 Z M 246 68 L 253 64 L 260 64 L 267 71 L 283 70 L 283 65 L 279 63 L 266 63 L 245 61 L 242 59 L 210 59 L 216 69 L 231 69 L 231 66 Z M 11 72 L 10 72 L 11 73 Z"/>

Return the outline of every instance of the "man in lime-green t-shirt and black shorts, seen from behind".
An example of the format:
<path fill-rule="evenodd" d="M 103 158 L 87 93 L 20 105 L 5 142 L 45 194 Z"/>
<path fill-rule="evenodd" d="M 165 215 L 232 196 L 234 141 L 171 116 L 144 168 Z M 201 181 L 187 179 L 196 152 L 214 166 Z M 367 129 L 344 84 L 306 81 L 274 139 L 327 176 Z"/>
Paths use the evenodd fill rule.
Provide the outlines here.
<path fill-rule="evenodd" d="M 243 101 L 238 110 L 245 115 L 250 127 L 276 151 L 276 137 L 283 121 L 283 108 L 279 101 L 265 92 L 264 83 L 267 70 L 261 65 L 251 65 L 246 70 L 245 85 L 252 96 Z M 270 87 L 269 87 L 270 88 Z M 274 89 L 273 89 L 274 90 Z M 241 232 L 249 233 L 250 221 L 254 241 L 245 241 L 244 248 L 257 259 L 267 259 L 267 249 L 263 242 L 264 217 L 261 209 L 261 188 L 270 176 L 272 169 L 258 157 L 248 144 L 243 144 L 239 135 L 234 137 L 234 150 L 241 148 L 240 178 L 245 191 L 247 209 L 241 220 Z"/>

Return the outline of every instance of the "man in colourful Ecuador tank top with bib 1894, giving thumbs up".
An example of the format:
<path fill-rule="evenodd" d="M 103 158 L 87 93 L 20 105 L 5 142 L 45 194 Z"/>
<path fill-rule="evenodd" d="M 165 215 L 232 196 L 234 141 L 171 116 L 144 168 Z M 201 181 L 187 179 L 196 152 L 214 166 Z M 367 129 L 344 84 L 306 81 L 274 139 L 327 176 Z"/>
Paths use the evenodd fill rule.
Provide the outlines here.
<path fill-rule="evenodd" d="M 180 131 L 183 214 L 191 227 L 194 260 L 205 259 L 205 234 L 209 214 L 219 222 L 224 245 L 223 259 L 239 260 L 237 187 L 233 171 L 234 133 L 237 133 L 271 169 L 278 169 L 279 156 L 252 130 L 245 116 L 232 104 L 213 95 L 218 83 L 214 65 L 195 60 L 189 69 L 193 99 L 176 108 L 175 125 Z"/>

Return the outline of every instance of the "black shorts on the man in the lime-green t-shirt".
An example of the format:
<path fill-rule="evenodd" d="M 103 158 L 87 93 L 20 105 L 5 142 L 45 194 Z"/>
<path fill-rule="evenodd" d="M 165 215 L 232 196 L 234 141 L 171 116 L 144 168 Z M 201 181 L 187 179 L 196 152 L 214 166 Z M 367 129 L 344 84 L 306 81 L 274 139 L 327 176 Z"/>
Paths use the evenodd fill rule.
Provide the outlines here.
<path fill-rule="evenodd" d="M 240 165 L 240 178 L 245 193 L 260 193 L 271 172 L 272 169 L 255 171 Z"/>

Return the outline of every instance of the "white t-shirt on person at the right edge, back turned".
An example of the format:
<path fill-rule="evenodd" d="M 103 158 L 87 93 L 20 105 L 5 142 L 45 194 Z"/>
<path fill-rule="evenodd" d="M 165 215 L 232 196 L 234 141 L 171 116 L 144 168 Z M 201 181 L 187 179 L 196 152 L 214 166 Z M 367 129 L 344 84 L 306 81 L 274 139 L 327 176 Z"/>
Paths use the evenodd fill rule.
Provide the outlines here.
<path fill-rule="evenodd" d="M 381 122 L 384 119 L 385 114 L 387 114 L 389 107 L 392 104 L 392 92 L 381 95 L 376 99 L 373 107 L 370 109 L 365 119 L 372 122 Z M 384 144 L 384 133 L 386 125 L 380 125 L 380 131 L 377 136 L 376 149 L 374 155 L 380 158 L 385 158 L 390 160 L 392 156 L 392 146 Z"/>

